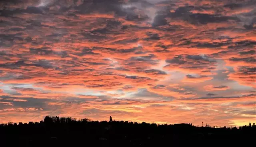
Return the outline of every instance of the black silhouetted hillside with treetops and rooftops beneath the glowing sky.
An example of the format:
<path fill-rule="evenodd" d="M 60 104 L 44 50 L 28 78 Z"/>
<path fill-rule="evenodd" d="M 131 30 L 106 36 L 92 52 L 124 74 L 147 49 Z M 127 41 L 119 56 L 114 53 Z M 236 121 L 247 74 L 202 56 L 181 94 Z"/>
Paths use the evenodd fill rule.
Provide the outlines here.
<path fill-rule="evenodd" d="M 205 127 L 192 123 L 157 125 L 46 116 L 44 121 L 0 125 L 0 147 L 239 146 L 255 144 L 256 125 Z"/>

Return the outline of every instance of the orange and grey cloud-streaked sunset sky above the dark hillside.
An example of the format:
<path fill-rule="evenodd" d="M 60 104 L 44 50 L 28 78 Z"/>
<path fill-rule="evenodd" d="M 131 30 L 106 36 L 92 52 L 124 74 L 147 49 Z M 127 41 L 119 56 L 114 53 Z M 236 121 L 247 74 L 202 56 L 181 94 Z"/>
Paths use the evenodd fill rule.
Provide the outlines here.
<path fill-rule="evenodd" d="M 0 0 L 0 123 L 256 122 L 256 0 Z"/>

